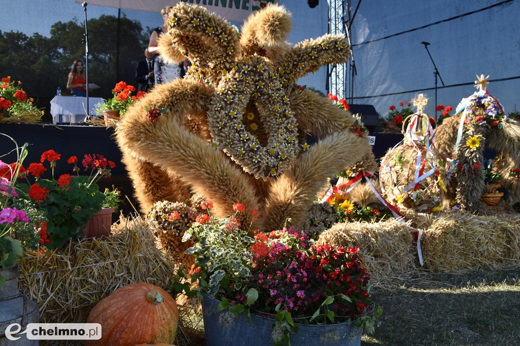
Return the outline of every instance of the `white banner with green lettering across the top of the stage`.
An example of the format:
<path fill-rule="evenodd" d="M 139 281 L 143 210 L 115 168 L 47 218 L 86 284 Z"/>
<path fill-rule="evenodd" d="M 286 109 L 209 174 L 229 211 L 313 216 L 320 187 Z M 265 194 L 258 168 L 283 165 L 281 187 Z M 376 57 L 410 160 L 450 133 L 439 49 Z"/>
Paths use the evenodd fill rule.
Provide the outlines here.
<path fill-rule="evenodd" d="M 76 0 L 82 4 L 83 0 Z M 261 0 L 90 0 L 87 5 L 107 6 L 129 10 L 161 12 L 164 6 L 175 6 L 183 2 L 188 5 L 199 5 L 215 12 L 217 16 L 229 21 L 243 22 L 252 12 L 260 9 Z M 276 3 L 278 0 L 267 0 Z M 88 9 L 88 8 L 87 8 Z"/>

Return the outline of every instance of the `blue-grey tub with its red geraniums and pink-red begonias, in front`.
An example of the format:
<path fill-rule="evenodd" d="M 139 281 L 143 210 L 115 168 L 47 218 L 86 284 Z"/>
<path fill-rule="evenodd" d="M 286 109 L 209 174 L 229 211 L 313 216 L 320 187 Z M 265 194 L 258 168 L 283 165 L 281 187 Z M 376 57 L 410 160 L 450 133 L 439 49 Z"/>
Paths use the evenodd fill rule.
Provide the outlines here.
<path fill-rule="evenodd" d="M 241 203 L 234 209 L 245 212 Z M 235 216 L 199 215 L 183 237 L 197 242 L 186 253 L 199 286 L 174 289 L 202 299 L 206 344 L 360 344 L 381 309 L 359 249 L 314 245 L 293 228 L 253 239 Z"/>

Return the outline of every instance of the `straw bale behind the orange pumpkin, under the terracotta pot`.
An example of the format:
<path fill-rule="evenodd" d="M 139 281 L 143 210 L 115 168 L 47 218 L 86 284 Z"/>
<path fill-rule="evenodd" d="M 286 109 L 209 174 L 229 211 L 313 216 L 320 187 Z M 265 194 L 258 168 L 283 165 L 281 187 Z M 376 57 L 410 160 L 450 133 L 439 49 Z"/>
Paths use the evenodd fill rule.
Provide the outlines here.
<path fill-rule="evenodd" d="M 25 253 L 19 281 L 40 306 L 40 322 L 85 323 L 98 301 L 131 283 L 148 282 L 169 291 L 176 276 L 170 260 L 154 246 L 149 227 L 139 217 L 122 218 L 110 237 Z"/>

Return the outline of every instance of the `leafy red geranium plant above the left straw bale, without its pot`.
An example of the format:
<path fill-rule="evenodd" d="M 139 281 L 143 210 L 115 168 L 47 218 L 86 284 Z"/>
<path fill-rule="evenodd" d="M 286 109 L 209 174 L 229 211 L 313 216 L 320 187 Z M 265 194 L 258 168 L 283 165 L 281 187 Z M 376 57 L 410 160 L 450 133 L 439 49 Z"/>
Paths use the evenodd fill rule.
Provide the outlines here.
<path fill-rule="evenodd" d="M 90 174 L 80 175 L 78 159 L 72 156 L 68 163 L 73 165 L 71 173 L 76 173 L 76 176 L 61 174 L 55 178 L 56 162 L 60 159 L 61 155 L 56 151 L 45 151 L 41 162 L 33 162 L 27 169 L 20 166 L 17 183 L 20 197 L 35 203 L 37 209 L 47 217 L 46 232 L 42 238 L 48 248 L 61 247 L 68 240 L 84 235 L 83 228 L 88 220 L 102 208 L 106 200 L 96 182 L 103 176 L 110 177 L 110 169 L 115 167 L 112 161 L 102 155 L 87 154 L 82 165 Z M 52 172 L 51 179 L 42 178 L 48 169 Z M 27 184 L 21 184 L 21 180 Z"/>

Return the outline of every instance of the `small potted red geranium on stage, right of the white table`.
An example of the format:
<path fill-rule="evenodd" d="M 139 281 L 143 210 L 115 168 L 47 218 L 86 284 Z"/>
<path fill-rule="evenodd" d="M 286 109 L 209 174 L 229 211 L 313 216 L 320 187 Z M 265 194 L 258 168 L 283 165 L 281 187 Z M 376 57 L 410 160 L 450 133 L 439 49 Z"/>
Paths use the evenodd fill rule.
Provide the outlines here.
<path fill-rule="evenodd" d="M 114 125 L 131 104 L 146 94 L 145 91 L 138 91 L 136 95 L 132 95 L 134 91 L 135 87 L 120 81 L 112 89 L 113 97 L 95 108 L 95 113 L 105 118 L 106 126 Z"/>

